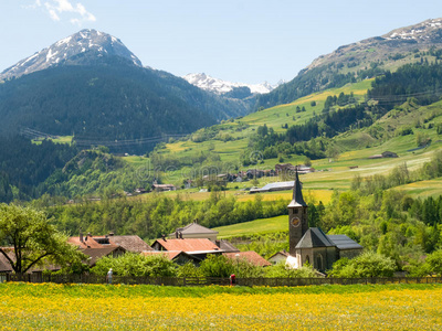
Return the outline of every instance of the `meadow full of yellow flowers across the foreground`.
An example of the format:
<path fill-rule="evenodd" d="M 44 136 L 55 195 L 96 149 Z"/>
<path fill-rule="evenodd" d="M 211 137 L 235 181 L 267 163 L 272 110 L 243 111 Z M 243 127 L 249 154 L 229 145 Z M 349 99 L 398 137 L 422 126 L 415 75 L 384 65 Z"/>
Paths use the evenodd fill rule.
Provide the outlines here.
<path fill-rule="evenodd" d="M 0 284 L 0 330 L 442 330 L 441 285 Z"/>

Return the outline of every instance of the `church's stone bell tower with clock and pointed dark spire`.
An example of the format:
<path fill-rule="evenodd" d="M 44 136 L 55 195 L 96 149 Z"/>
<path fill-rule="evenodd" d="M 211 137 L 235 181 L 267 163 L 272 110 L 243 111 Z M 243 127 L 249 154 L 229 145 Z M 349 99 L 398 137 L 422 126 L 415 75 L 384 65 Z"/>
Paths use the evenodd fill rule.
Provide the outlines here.
<path fill-rule="evenodd" d="M 304 201 L 299 177 L 296 170 L 295 184 L 293 186 L 293 199 L 288 209 L 288 236 L 290 255 L 296 256 L 295 247 L 308 229 L 307 204 Z"/>

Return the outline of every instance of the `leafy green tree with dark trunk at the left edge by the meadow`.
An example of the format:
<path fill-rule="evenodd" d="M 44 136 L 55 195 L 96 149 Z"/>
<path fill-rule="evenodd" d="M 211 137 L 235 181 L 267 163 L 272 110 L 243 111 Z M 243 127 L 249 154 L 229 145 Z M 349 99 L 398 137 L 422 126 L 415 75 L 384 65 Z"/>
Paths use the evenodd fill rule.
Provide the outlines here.
<path fill-rule="evenodd" d="M 43 212 L 14 204 L 0 205 L 0 254 L 15 274 L 45 263 L 66 267 L 85 259 Z"/>

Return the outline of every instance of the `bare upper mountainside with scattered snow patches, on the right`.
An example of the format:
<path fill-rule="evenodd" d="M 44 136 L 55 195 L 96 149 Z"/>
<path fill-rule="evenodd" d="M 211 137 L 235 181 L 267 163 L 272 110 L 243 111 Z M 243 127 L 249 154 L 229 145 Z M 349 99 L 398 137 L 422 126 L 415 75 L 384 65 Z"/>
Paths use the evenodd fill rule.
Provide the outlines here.
<path fill-rule="evenodd" d="M 255 108 L 287 104 L 315 92 L 375 77 L 386 70 L 420 61 L 419 52 L 441 46 L 442 19 L 344 45 L 316 58 L 291 82 L 260 95 Z"/>

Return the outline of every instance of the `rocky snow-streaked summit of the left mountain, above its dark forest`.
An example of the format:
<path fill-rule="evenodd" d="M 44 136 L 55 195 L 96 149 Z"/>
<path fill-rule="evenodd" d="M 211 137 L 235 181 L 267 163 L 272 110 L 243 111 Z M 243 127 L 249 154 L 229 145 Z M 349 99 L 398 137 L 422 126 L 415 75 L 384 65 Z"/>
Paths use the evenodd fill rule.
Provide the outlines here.
<path fill-rule="evenodd" d="M 77 55 L 94 52 L 95 56 L 120 56 L 129 60 L 135 65 L 141 66 L 141 62 L 115 36 L 96 30 L 82 30 L 73 35 L 64 38 L 48 49 L 44 49 L 0 74 L 0 79 L 19 77 L 36 71 L 72 62 Z"/>

